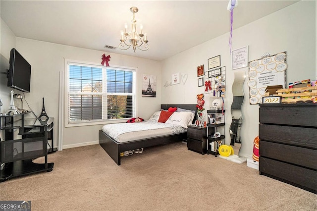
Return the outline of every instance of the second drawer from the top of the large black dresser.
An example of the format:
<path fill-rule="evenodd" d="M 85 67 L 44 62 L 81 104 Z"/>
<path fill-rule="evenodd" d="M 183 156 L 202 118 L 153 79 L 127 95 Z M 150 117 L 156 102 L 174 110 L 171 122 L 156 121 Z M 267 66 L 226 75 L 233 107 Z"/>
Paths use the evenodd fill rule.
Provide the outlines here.
<path fill-rule="evenodd" d="M 317 150 L 317 128 L 260 124 L 259 138 Z"/>

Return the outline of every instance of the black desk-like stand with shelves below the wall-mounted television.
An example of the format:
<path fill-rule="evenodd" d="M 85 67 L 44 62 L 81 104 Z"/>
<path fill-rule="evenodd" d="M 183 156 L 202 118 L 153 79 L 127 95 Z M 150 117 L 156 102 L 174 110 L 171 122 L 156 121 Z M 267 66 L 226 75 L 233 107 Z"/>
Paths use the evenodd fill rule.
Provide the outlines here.
<path fill-rule="evenodd" d="M 53 145 L 54 118 L 43 122 L 24 115 L 0 116 L 0 182 L 53 170 L 54 163 L 48 163 L 48 140 Z M 32 161 L 39 157 L 45 157 L 45 163 Z"/>

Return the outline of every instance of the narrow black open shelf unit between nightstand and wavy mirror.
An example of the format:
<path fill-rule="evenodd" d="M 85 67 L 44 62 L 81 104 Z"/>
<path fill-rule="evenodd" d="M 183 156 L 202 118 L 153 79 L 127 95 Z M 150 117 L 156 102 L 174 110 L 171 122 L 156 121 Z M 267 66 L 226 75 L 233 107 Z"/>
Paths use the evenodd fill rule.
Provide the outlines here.
<path fill-rule="evenodd" d="M 211 118 L 214 118 L 215 121 L 214 124 L 207 124 L 207 130 L 210 131 L 207 139 L 207 154 L 212 154 L 215 157 L 219 155 L 218 148 L 223 144 L 223 141 L 221 140 L 225 139 L 224 135 L 220 135 L 220 137 L 212 137 L 214 133 L 218 132 L 218 127 L 225 126 L 224 114 L 221 116 L 221 121 L 217 120 L 219 114 L 222 115 L 222 112 L 224 113 L 225 110 L 207 110 L 207 114 L 211 115 Z"/>

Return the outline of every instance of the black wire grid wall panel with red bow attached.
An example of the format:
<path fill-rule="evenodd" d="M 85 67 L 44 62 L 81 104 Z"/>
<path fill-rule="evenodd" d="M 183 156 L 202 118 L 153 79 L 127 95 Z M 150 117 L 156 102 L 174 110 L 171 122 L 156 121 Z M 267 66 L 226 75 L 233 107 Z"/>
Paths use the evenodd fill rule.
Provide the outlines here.
<path fill-rule="evenodd" d="M 205 94 L 215 97 L 224 97 L 226 90 L 225 83 L 226 67 L 213 68 L 205 72 Z"/>

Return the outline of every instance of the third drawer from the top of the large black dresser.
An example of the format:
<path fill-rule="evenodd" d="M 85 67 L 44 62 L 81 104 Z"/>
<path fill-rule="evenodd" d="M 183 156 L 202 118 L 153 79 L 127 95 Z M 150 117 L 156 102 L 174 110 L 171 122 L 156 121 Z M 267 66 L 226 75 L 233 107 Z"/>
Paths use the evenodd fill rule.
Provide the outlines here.
<path fill-rule="evenodd" d="M 260 140 L 260 156 L 317 170 L 317 150 Z M 303 159 L 305 158 L 305 159 Z"/>

